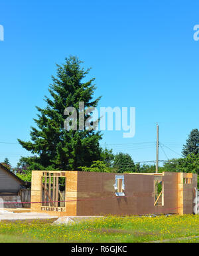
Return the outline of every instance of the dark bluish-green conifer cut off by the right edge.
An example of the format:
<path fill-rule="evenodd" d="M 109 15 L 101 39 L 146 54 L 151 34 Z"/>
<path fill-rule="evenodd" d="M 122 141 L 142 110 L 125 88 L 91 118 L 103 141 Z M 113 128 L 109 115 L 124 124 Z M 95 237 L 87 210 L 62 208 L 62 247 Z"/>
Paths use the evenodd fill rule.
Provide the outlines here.
<path fill-rule="evenodd" d="M 182 155 L 184 157 L 188 156 L 189 154 L 198 154 L 199 152 L 199 131 L 198 129 L 193 129 L 188 139 L 186 140 L 186 145 L 183 145 Z"/>

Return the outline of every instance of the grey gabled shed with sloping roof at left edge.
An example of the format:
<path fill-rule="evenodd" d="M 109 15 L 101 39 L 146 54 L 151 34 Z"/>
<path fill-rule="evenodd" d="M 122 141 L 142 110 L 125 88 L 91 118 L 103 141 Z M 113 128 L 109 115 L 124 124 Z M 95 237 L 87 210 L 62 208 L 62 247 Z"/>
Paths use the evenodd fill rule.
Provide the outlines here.
<path fill-rule="evenodd" d="M 0 195 L 18 195 L 26 183 L 0 164 Z"/>

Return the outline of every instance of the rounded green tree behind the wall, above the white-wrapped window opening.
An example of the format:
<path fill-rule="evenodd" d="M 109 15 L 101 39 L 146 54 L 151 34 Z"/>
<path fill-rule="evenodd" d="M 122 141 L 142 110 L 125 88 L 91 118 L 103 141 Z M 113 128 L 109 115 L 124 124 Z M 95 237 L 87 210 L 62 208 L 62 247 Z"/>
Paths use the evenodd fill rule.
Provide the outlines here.
<path fill-rule="evenodd" d="M 116 172 L 135 172 L 135 164 L 129 154 L 119 153 L 115 155 L 113 168 Z"/>

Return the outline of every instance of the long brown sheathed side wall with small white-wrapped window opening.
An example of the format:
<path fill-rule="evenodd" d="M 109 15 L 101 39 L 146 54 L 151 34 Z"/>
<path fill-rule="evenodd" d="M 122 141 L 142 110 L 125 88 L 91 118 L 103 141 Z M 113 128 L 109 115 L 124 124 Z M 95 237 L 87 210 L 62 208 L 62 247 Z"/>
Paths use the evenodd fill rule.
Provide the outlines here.
<path fill-rule="evenodd" d="M 78 172 L 78 199 L 82 201 L 77 203 L 77 215 L 178 213 L 177 173 L 162 176 L 164 206 L 154 206 L 154 176 L 123 174 L 125 197 L 117 197 L 115 175 Z"/>

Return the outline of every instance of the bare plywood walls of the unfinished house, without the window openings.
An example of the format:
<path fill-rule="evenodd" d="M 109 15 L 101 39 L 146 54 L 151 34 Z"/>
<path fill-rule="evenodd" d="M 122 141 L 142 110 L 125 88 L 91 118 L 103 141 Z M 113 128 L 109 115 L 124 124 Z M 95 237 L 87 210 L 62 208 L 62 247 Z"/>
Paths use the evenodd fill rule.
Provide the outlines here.
<path fill-rule="evenodd" d="M 33 171 L 32 202 L 42 201 L 43 172 L 47 171 Z M 42 211 L 40 203 L 32 203 L 31 211 L 68 216 L 192 213 L 193 190 L 197 186 L 196 174 L 113 174 L 75 171 L 61 173 L 66 177 L 65 211 Z M 115 195 L 116 175 L 124 176 L 124 196 Z M 189 178 L 192 182 L 184 184 L 184 178 Z M 155 180 L 161 181 L 163 186 L 161 197 L 156 195 Z M 158 200 L 159 203 L 156 204 Z"/>

